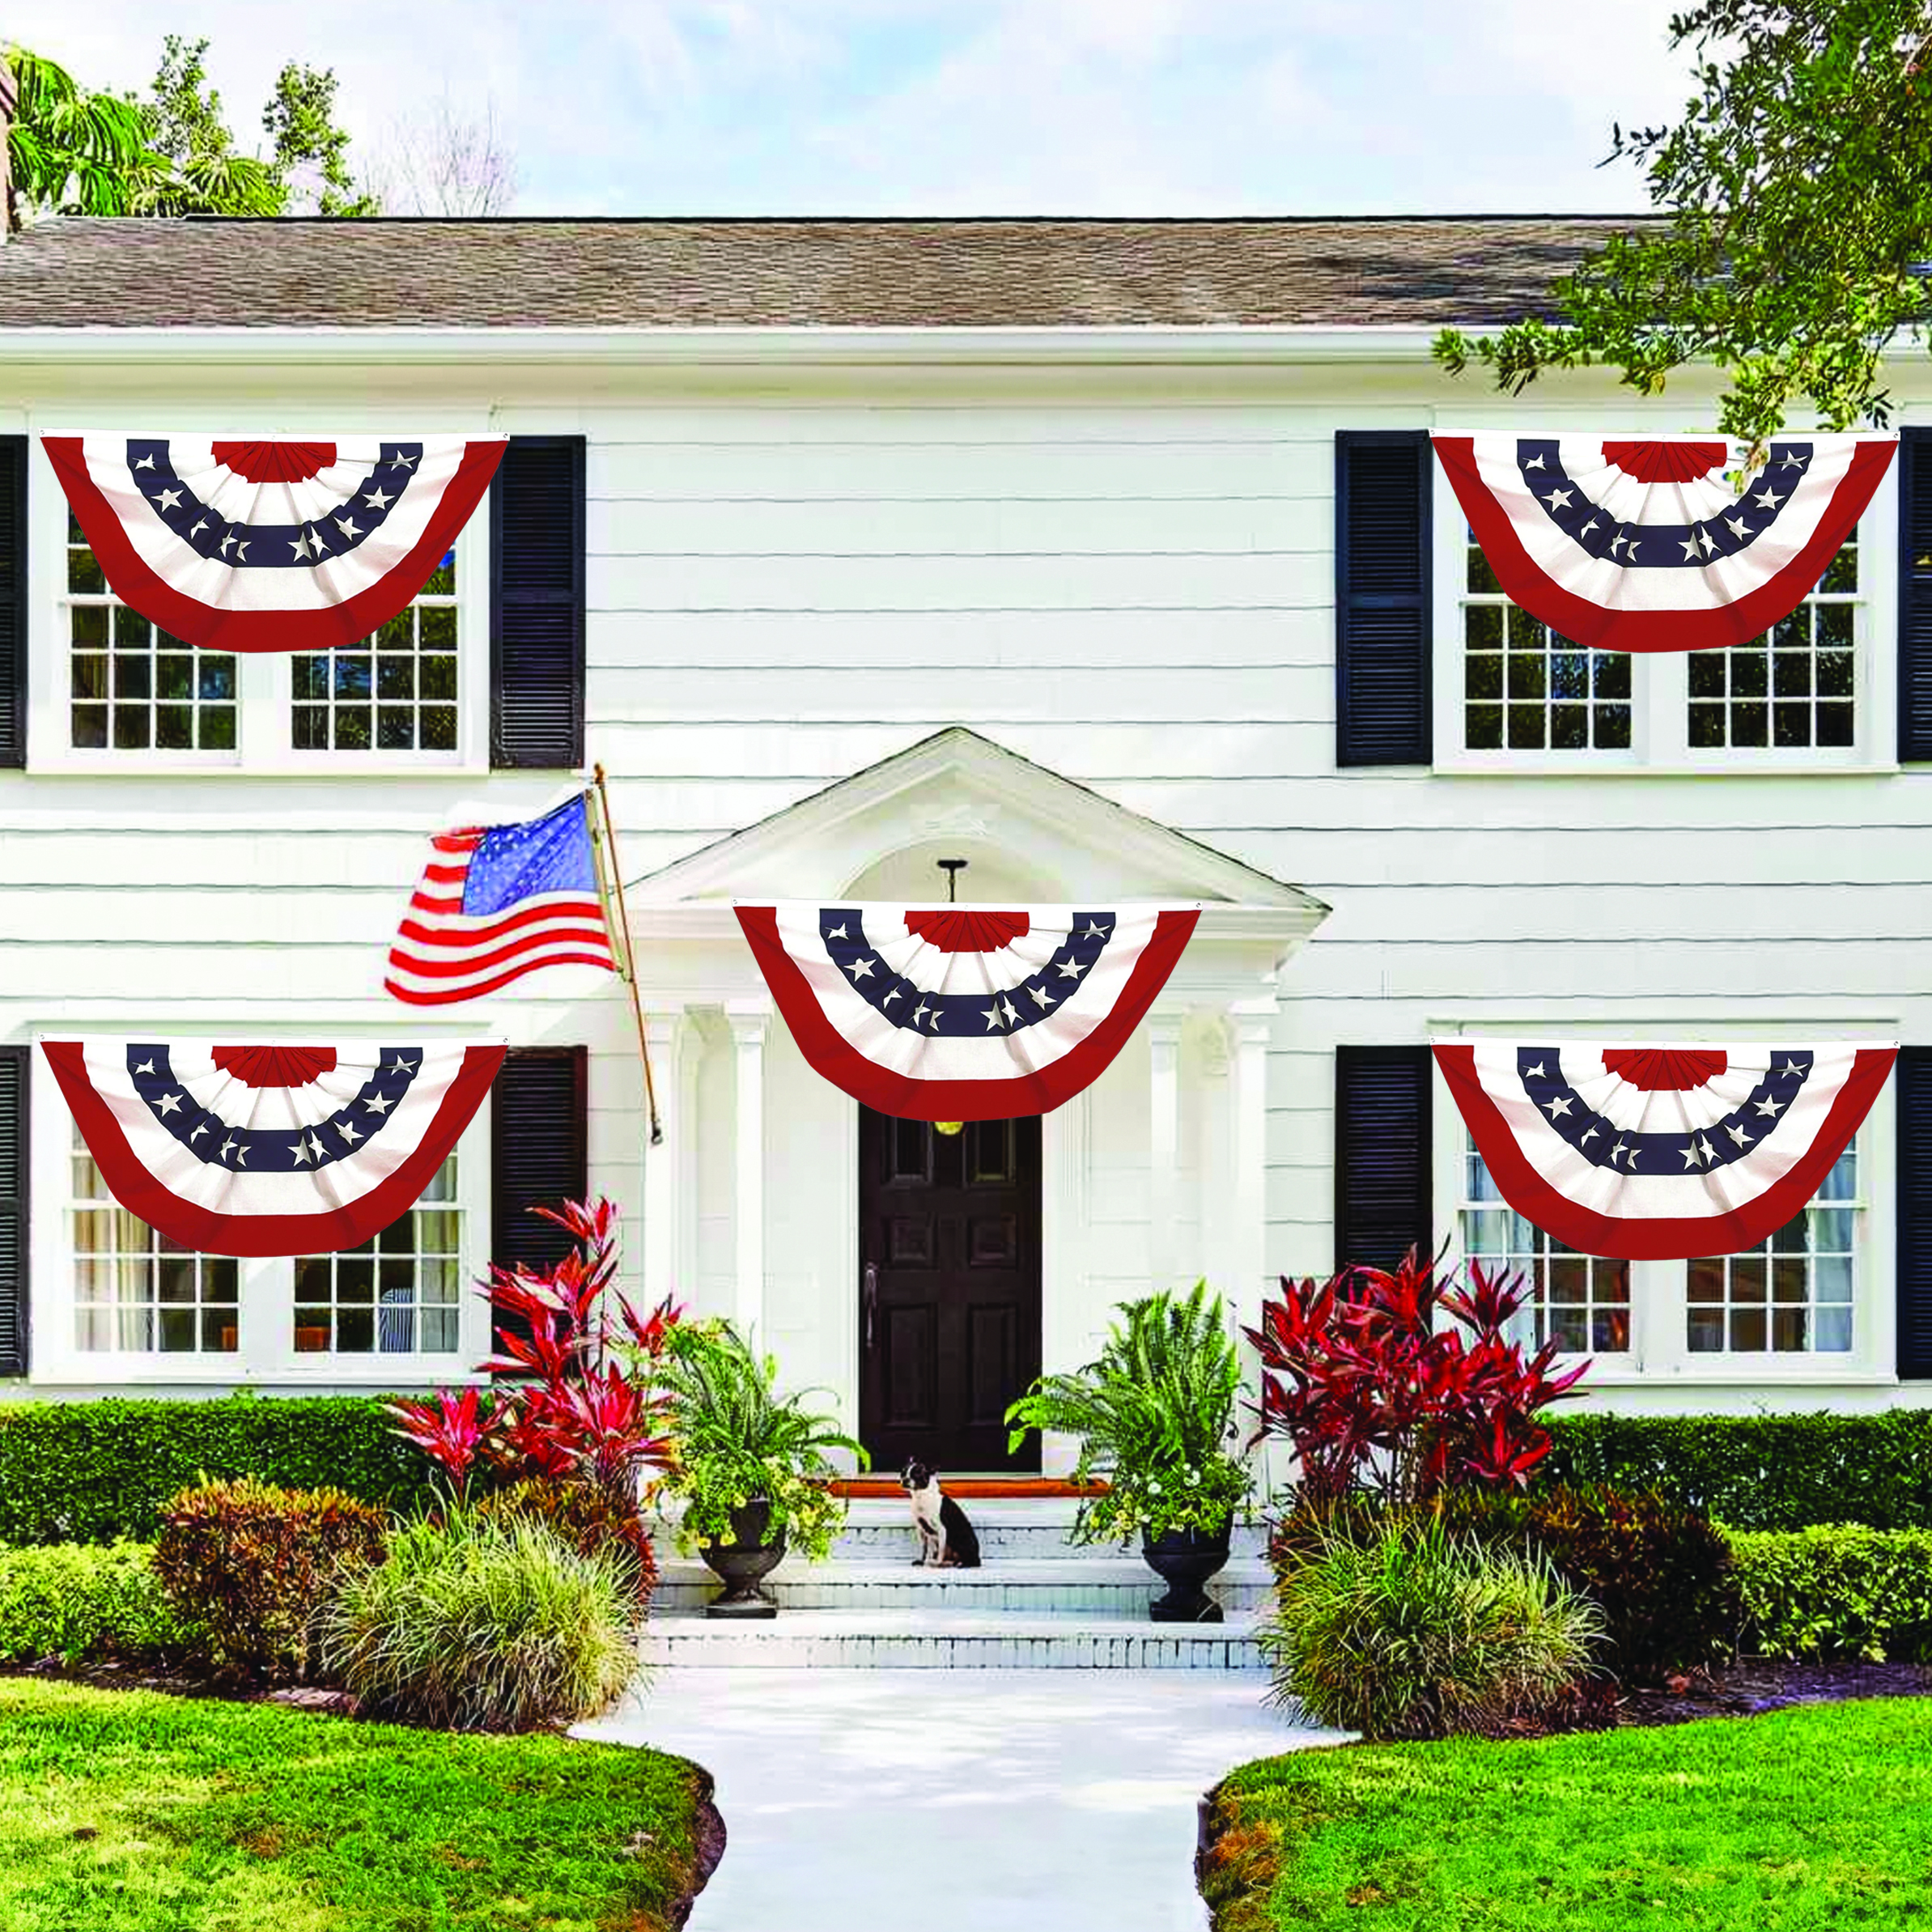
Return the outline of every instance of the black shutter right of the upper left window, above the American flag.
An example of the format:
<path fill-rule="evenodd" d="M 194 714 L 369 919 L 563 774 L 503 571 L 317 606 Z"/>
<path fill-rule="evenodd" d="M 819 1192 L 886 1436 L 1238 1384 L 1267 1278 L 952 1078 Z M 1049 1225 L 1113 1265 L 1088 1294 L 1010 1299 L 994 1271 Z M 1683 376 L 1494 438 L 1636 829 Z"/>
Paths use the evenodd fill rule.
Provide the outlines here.
<path fill-rule="evenodd" d="M 489 761 L 583 763 L 583 437 L 512 437 L 489 491 Z"/>

